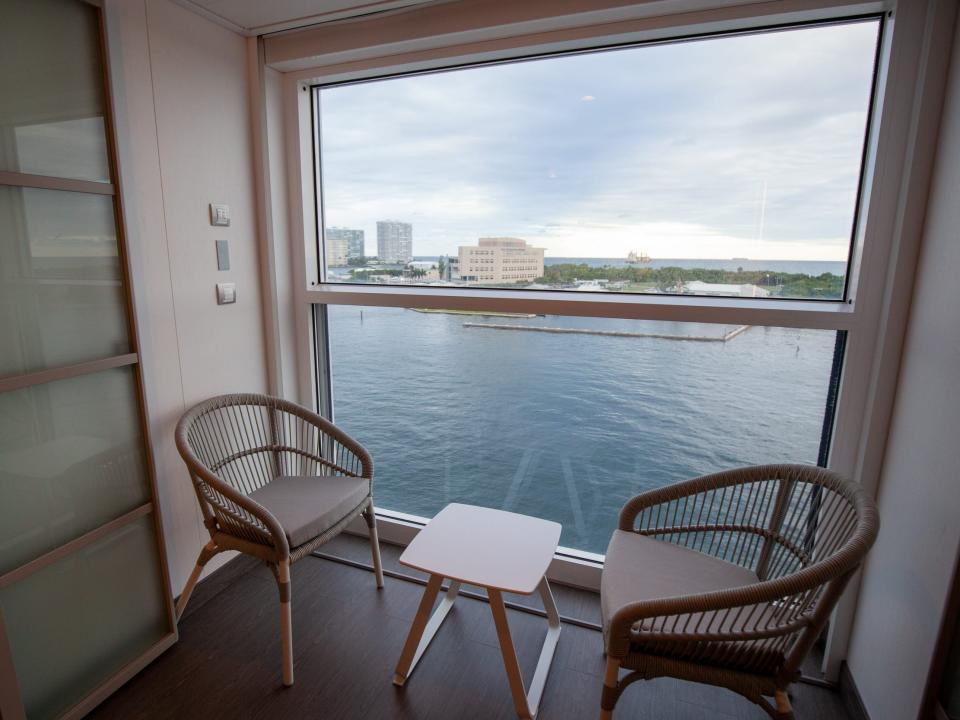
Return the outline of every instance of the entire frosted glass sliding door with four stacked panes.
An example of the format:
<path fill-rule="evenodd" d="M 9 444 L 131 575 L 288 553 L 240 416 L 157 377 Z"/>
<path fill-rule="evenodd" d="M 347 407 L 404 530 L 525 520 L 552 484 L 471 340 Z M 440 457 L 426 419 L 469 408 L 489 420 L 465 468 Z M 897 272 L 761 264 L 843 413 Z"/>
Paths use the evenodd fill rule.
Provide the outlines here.
<path fill-rule="evenodd" d="M 0 2 L 0 717 L 79 717 L 176 640 L 100 10 Z"/>

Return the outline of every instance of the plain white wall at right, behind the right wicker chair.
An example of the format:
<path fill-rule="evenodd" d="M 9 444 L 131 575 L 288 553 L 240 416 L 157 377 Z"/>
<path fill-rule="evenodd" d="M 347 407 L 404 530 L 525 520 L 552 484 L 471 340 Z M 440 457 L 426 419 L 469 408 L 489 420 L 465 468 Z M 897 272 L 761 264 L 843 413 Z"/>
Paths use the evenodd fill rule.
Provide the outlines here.
<path fill-rule="evenodd" d="M 917 717 L 960 546 L 960 24 L 851 673 L 872 720 Z"/>

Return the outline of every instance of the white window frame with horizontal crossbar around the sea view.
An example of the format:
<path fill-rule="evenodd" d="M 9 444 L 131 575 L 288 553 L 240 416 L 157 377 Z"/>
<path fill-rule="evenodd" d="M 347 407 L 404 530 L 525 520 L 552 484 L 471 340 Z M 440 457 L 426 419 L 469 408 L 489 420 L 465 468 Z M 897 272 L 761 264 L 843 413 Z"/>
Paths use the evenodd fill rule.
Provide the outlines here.
<path fill-rule="evenodd" d="M 295 387 L 300 402 L 330 412 L 329 358 L 322 312 L 328 304 L 383 307 L 427 307 L 465 310 L 509 310 L 586 317 L 673 320 L 804 327 L 846 332 L 842 380 L 834 415 L 828 466 L 861 482 L 876 493 L 889 425 L 900 349 L 909 310 L 913 272 L 922 227 L 926 180 L 936 141 L 918 135 L 918 127 L 939 112 L 942 87 L 924 82 L 927 66 L 942 62 L 928 26 L 945 13 L 934 0 L 906 2 L 833 0 L 799 2 L 775 0 L 757 5 L 735 5 L 705 0 L 691 9 L 683 0 L 657 3 L 634 17 L 610 23 L 557 29 L 549 21 L 527 23 L 513 35 L 471 35 L 457 42 L 437 37 L 411 42 L 402 49 L 383 45 L 356 52 L 322 51 L 309 63 L 275 68 L 283 73 L 283 124 L 286 133 L 286 184 L 292 270 L 292 310 L 295 373 L 282 382 Z M 318 194 L 322 168 L 315 167 L 317 138 L 311 122 L 312 85 L 372 79 L 385 75 L 428 71 L 484 61 L 504 61 L 562 50 L 590 50 L 643 41 L 682 40 L 691 35 L 750 32 L 772 26 L 854 19 L 883 15 L 877 52 L 874 97 L 867 128 L 862 179 L 857 197 L 855 231 L 848 265 L 844 301 L 779 300 L 624 295 L 615 300 L 590 293 L 566 291 L 430 288 L 328 284 L 316 243 Z M 385 22 L 389 22 L 389 19 Z M 360 32 L 358 29 L 357 32 Z M 260 61 L 271 57 L 260 40 Z M 319 46 L 318 46 L 319 49 Z M 304 53 L 306 57 L 307 53 Z M 937 67 L 934 67 L 937 70 Z M 918 119 L 919 118 L 919 119 Z M 916 176 L 916 177 L 915 177 Z M 917 182 L 914 182 L 916 180 Z M 865 239 L 869 238 L 869 242 Z M 290 277 L 278 277 L 290 282 Z M 315 342 L 319 340 L 319 342 Z M 277 355 L 284 350 L 274 342 Z M 319 350 L 319 352 L 318 352 Z M 277 365 L 279 360 L 275 361 Z M 295 377 L 294 377 L 295 375 Z M 378 509 L 381 537 L 405 544 L 422 519 Z M 551 565 L 551 577 L 597 588 L 601 558 L 561 549 Z M 846 651 L 858 581 L 841 601 L 831 623 L 824 671 L 835 679 Z"/>

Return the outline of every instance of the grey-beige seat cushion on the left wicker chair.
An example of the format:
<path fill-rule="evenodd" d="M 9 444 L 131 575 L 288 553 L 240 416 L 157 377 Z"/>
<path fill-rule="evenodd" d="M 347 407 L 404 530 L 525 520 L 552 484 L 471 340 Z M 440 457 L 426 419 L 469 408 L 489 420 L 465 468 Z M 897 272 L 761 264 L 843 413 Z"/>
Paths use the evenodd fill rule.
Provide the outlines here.
<path fill-rule="evenodd" d="M 282 475 L 250 493 L 280 522 L 291 548 L 323 534 L 367 497 L 370 481 L 345 475 Z"/>

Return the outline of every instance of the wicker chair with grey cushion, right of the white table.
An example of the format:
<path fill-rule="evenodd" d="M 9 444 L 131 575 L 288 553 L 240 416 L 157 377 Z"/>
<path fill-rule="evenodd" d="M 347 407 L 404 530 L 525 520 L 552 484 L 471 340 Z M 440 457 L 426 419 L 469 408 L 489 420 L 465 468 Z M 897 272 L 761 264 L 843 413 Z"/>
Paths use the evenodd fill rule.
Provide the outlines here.
<path fill-rule="evenodd" d="M 787 688 L 878 527 L 858 485 L 806 465 L 730 470 L 634 497 L 601 580 L 600 717 L 612 717 L 630 683 L 674 677 L 793 718 Z M 621 678 L 621 668 L 632 672 Z"/>

